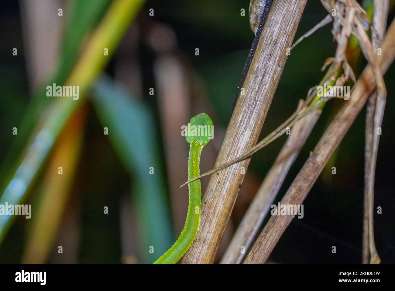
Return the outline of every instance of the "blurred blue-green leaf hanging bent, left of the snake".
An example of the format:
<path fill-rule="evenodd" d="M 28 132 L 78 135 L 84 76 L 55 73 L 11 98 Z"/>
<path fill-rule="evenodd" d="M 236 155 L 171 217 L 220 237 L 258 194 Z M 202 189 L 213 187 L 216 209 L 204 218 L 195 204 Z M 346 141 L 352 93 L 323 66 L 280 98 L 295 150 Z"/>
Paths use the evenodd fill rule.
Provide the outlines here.
<path fill-rule="evenodd" d="M 94 83 L 92 101 L 120 160 L 134 177 L 135 209 L 142 234 L 141 253 L 145 262 L 154 262 L 173 243 L 164 167 L 160 157 L 158 129 L 154 118 L 140 101 L 102 77 Z M 150 167 L 154 175 L 150 175 Z M 149 253 L 149 247 L 154 253 Z"/>

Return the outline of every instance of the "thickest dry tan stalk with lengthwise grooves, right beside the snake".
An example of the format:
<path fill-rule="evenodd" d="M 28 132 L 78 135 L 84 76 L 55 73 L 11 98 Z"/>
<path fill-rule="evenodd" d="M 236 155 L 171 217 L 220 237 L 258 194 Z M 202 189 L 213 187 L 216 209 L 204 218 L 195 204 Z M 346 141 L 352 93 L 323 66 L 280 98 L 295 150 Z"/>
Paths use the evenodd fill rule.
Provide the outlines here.
<path fill-rule="evenodd" d="M 258 140 L 307 0 L 273 2 L 214 167 L 240 156 Z M 243 90 L 242 90 L 243 93 Z M 201 224 L 182 263 L 214 262 L 249 159 L 211 176 Z M 245 173 L 245 172 L 244 172 Z"/>

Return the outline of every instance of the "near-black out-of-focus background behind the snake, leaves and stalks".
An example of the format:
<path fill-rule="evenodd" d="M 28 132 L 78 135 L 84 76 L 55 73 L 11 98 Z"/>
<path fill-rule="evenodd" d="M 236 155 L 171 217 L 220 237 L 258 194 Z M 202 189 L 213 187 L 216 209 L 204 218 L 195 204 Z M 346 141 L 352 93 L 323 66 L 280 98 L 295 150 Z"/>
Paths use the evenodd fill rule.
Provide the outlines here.
<path fill-rule="evenodd" d="M 32 96 L 31 76 L 26 67 L 26 26 L 23 25 L 21 2 L 2 1 L 0 4 L 0 163 L 5 160 L 11 147 L 11 130 L 18 124 Z M 67 2 L 64 2 L 67 6 Z M 254 38 L 249 28 L 248 16 L 240 16 L 240 9 L 248 11 L 248 0 L 167 0 L 147 1 L 134 21 L 133 27 L 126 34 L 120 48 L 107 66 L 106 71 L 130 91 L 139 95 L 139 100 L 152 112 L 154 124 L 159 132 L 159 148 L 161 156 L 165 156 L 164 131 L 160 119 L 161 105 L 156 96 L 149 95 L 150 87 L 157 87 L 154 74 L 155 61 L 164 54 L 160 49 L 153 48 L 147 41 L 147 35 L 155 25 L 164 25 L 177 37 L 177 45 L 170 51 L 184 65 L 193 81 L 189 85 L 192 92 L 190 108 L 186 108 L 187 116 L 193 116 L 198 108 L 207 108 L 214 120 L 217 135 L 214 136 L 213 151 L 218 151 L 223 132 L 228 124 L 231 105 L 236 93 L 236 86 L 248 55 L 248 50 Z M 154 8 L 155 16 L 149 17 L 149 9 Z M 308 1 L 303 13 L 296 38 L 307 32 L 325 17 L 326 11 L 319 1 Z M 390 12 L 389 23 L 394 13 Z M 138 36 L 135 31 L 138 31 Z M 18 47 L 18 57 L 13 57 L 11 50 Z M 200 49 L 199 57 L 194 55 L 195 48 Z M 310 87 L 318 84 L 324 73 L 321 67 L 327 57 L 335 54 L 336 44 L 332 41 L 331 27 L 326 26 L 303 40 L 288 57 L 286 67 L 278 85 L 272 106 L 267 115 L 261 137 L 265 137 L 286 118 L 297 105 L 299 99 L 304 99 Z M 166 51 L 165 53 L 169 53 Z M 133 74 L 117 76 L 120 63 L 138 61 L 139 86 Z M 361 57 L 354 67 L 358 75 L 366 61 Z M 126 67 L 127 68 L 127 67 Z M 395 219 L 393 209 L 394 199 L 394 154 L 393 128 L 395 127 L 393 82 L 395 67 L 392 65 L 385 75 L 387 86 L 387 105 L 382 125 L 382 136 L 376 167 L 375 207 L 382 207 L 382 214 L 374 215 L 374 234 L 376 248 L 382 263 L 395 262 Z M 136 89 L 137 88 L 137 89 Z M 196 89 L 198 88 L 198 89 Z M 311 136 L 303 147 L 301 154 L 290 169 L 290 172 L 275 200 L 280 201 L 292 183 L 302 165 L 308 158 L 329 122 L 333 119 L 342 101 L 332 100 L 324 108 L 323 114 L 314 127 Z M 176 106 L 174 108 L 177 108 Z M 175 109 L 175 115 L 180 114 Z M 63 238 L 69 238 L 70 245 L 75 246 L 73 260 L 67 261 L 56 257 L 57 245 L 53 246 L 47 257 L 47 262 L 144 262 L 138 250 L 139 230 L 130 234 L 122 225 L 132 225 L 136 218 L 128 221 L 128 216 L 122 215 L 122 205 L 136 206 L 133 202 L 135 193 L 130 193 L 130 185 L 134 178 L 130 177 L 119 156 L 114 152 L 106 136 L 103 136 L 100 121 L 91 105 L 84 130 L 84 143 L 77 165 L 77 173 L 73 182 L 68 205 L 68 217 L 77 217 L 77 222 L 68 224 L 68 228 L 77 227 L 78 236 L 68 236 L 62 232 Z M 187 123 L 188 120 L 185 121 Z M 222 134 L 221 134 L 222 132 Z M 325 167 L 320 178 L 310 191 L 304 202 L 304 218 L 293 219 L 290 226 L 276 245 L 271 262 L 277 263 L 359 263 L 361 262 L 362 227 L 363 227 L 363 188 L 364 188 L 364 140 L 365 108 L 359 114 L 346 137 L 336 150 L 334 156 Z M 216 141 L 215 141 L 216 137 Z M 180 137 L 181 138 L 181 137 Z M 241 221 L 249 203 L 265 174 L 273 164 L 286 137 L 281 137 L 260 152 L 254 154 L 243 187 L 236 202 L 233 217 L 224 237 L 223 244 L 229 243 L 231 234 Z M 185 143 L 185 146 L 188 146 Z M 170 149 L 171 150 L 171 149 Z M 205 157 L 209 160 L 204 169 L 209 169 L 214 163 L 215 155 Z M 187 157 L 184 169 L 180 169 L 182 179 L 186 178 Z M 163 159 L 166 165 L 169 163 Z M 211 163 L 211 164 L 210 164 Z M 336 175 L 331 175 L 331 167 L 337 169 Z M 184 173 L 183 173 L 184 172 Z M 102 179 L 102 177 L 106 177 Z M 166 174 L 169 195 L 169 181 L 173 177 Z M 39 179 L 40 181 L 40 179 Z M 203 179 L 203 189 L 207 179 Z M 186 189 L 184 189 L 186 191 Z M 34 201 L 32 190 L 29 201 Z M 0 194 L 1 195 L 1 194 Z M 186 194 L 185 194 L 186 195 Z M 167 196 L 169 197 L 169 196 Z M 131 199 L 130 199 L 131 198 Z M 171 202 L 167 202 L 171 209 Z M 33 202 L 32 202 L 33 204 Z M 101 205 L 114 209 L 105 217 L 98 218 L 102 211 Z M 96 207 L 97 206 L 97 207 Z M 174 207 L 174 206 L 173 206 Z M 186 207 L 186 206 L 185 206 Z M 181 210 L 183 211 L 183 210 Z M 134 212 L 133 212 L 134 213 Z M 182 217 L 182 213 L 180 217 Z M 138 219 L 138 218 L 137 218 Z M 124 221 L 126 220 L 126 221 Z M 124 224 L 122 224 L 122 221 Z M 267 221 L 267 219 L 265 220 Z M 60 228 L 66 227 L 63 221 Z M 179 222 L 180 223 L 180 222 Z M 183 222 L 181 221 L 181 224 Z M 17 219 L 0 245 L 0 262 L 20 262 L 24 247 L 29 240 L 29 223 Z M 171 230 L 170 230 L 171 231 Z M 178 235 L 177 227 L 174 238 Z M 132 236 L 130 239 L 127 236 Z M 60 237 L 58 236 L 59 240 Z M 137 241 L 137 242 L 136 242 Z M 125 244 L 129 244 L 125 246 Z M 331 247 L 337 247 L 337 253 L 331 253 Z M 223 254 L 223 247 L 217 261 Z M 51 255 L 52 254 L 52 255 Z"/>

